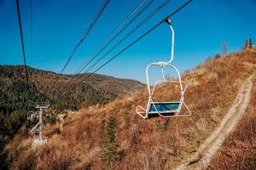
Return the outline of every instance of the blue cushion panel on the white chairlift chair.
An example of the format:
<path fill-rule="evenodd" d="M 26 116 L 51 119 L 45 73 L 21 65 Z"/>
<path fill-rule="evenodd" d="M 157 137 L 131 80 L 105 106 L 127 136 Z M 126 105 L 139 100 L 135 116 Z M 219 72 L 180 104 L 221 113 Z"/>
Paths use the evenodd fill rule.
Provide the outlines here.
<path fill-rule="evenodd" d="M 179 102 L 162 102 L 162 103 L 154 103 L 154 105 L 151 103 L 150 104 L 150 109 L 149 109 L 149 113 L 150 112 L 174 112 L 177 111 L 178 106 L 180 105 Z M 157 111 L 155 110 L 155 108 L 157 109 Z"/>

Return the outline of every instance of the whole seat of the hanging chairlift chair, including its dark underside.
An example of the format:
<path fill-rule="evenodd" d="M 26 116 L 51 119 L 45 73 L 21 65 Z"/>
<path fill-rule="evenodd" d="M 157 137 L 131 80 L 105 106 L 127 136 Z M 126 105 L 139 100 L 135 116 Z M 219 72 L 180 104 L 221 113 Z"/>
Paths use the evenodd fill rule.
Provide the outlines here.
<path fill-rule="evenodd" d="M 179 105 L 180 102 L 154 102 L 154 104 L 151 102 L 148 116 L 173 116 L 179 110 Z M 158 112 L 160 113 L 160 115 L 158 114 Z"/>

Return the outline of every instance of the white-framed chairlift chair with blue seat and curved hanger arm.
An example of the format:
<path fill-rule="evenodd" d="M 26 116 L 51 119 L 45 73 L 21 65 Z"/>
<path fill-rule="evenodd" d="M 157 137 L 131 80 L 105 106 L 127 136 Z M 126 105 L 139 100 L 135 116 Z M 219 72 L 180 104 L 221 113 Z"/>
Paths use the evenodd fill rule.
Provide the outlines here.
<path fill-rule="evenodd" d="M 173 55 L 174 55 L 174 30 L 171 25 L 171 20 L 166 19 L 166 23 L 170 27 L 172 31 L 172 54 L 171 54 L 171 59 L 167 62 L 165 61 L 160 61 L 160 62 L 154 62 L 151 63 L 147 66 L 146 68 L 146 79 L 147 79 L 147 84 L 148 84 L 148 104 L 146 109 L 144 109 L 141 105 L 137 105 L 137 114 L 139 116 L 142 116 L 144 119 L 151 118 L 151 117 L 175 117 L 175 116 L 190 116 L 191 111 L 189 110 L 189 107 L 185 104 L 184 100 L 184 94 L 186 91 L 186 84 L 185 82 L 182 82 L 181 76 L 179 71 L 177 70 L 177 67 L 172 65 L 172 60 L 173 60 Z M 162 75 L 162 80 L 157 81 L 154 83 L 154 88 L 150 88 L 149 84 L 149 78 L 148 78 L 148 70 L 151 66 L 160 66 L 161 69 L 161 75 Z M 166 80 L 165 74 L 164 74 L 164 67 L 171 67 L 174 71 L 177 72 L 177 81 L 172 81 L 172 80 Z M 154 101 L 152 99 L 154 90 L 157 85 L 159 85 L 162 82 L 170 82 L 170 83 L 177 83 L 179 85 L 179 90 L 181 97 L 177 101 Z M 182 106 L 185 106 L 186 109 L 189 111 L 188 114 L 179 114 Z"/>

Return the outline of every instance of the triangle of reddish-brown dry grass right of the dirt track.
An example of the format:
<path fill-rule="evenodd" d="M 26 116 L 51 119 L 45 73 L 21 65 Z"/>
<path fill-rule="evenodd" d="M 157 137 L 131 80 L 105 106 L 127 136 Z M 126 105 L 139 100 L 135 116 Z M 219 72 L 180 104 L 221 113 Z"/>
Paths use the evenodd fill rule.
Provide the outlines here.
<path fill-rule="evenodd" d="M 255 84 L 255 83 L 254 83 Z M 208 169 L 256 169 L 256 88 L 246 114 L 225 139 Z"/>

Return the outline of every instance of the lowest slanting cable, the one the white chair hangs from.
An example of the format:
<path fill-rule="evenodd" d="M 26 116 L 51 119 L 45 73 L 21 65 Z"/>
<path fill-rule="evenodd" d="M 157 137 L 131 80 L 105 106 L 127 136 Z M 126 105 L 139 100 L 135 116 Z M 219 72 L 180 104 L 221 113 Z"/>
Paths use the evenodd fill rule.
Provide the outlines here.
<path fill-rule="evenodd" d="M 146 31 L 142 36 L 138 37 L 134 42 L 131 42 L 128 46 L 126 46 L 125 48 L 123 48 L 121 51 L 119 51 L 118 54 L 113 55 L 113 57 L 111 59 L 108 59 L 108 61 L 106 61 L 103 65 L 101 65 L 100 67 L 98 67 L 96 69 L 96 71 L 99 71 L 100 69 L 102 69 L 103 66 L 108 65 L 108 63 L 110 61 L 112 61 L 113 59 L 117 58 L 120 54 L 124 53 L 125 50 L 127 50 L 128 48 L 131 48 L 132 45 L 134 45 L 136 42 L 138 42 L 139 40 L 141 40 L 143 37 L 147 36 L 151 31 L 154 31 L 154 29 L 156 29 L 158 26 L 160 26 L 162 23 L 166 22 L 166 19 L 171 18 L 174 14 L 177 14 L 178 11 L 180 11 L 182 8 L 184 8 L 185 6 L 187 6 L 189 3 L 191 3 L 192 0 L 189 0 L 187 3 L 184 3 L 181 7 L 177 8 L 174 12 L 172 12 L 172 14 L 169 14 L 164 20 L 160 20 L 160 22 L 158 22 L 155 26 L 153 26 L 152 28 L 150 28 L 148 31 Z M 84 80 L 86 80 L 88 77 L 91 77 L 93 74 L 96 73 L 96 71 L 91 72 L 88 76 L 84 77 L 83 80 L 81 80 L 76 86 L 78 86 L 80 83 L 84 82 Z M 75 86 L 75 87 L 76 87 Z M 75 88 L 74 87 L 74 88 Z"/>

